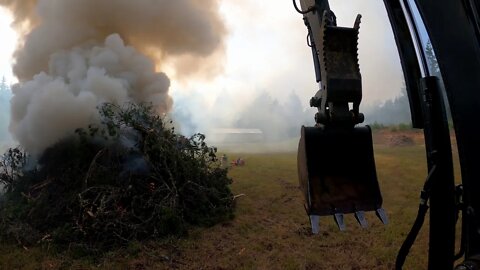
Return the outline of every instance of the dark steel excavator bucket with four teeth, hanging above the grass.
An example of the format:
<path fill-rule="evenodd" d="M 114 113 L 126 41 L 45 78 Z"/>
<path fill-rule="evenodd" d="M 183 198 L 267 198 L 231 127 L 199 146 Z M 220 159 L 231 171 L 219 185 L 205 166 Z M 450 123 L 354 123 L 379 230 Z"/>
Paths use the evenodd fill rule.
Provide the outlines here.
<path fill-rule="evenodd" d="M 332 215 L 345 230 L 344 214 L 354 213 L 362 227 L 365 211 L 387 223 L 377 181 L 370 127 L 302 127 L 298 149 L 300 187 L 312 230 L 319 216 Z"/>

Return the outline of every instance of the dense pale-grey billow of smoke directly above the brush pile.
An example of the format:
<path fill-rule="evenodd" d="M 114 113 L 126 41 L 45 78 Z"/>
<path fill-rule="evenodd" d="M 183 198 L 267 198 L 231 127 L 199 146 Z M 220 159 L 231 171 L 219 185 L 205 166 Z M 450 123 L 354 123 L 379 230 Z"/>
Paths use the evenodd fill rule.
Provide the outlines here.
<path fill-rule="evenodd" d="M 104 102 L 152 102 L 159 113 L 172 104 L 170 81 L 153 62 L 111 35 L 101 46 L 52 54 L 48 72 L 17 85 L 10 130 L 23 147 L 40 153 L 46 147 L 98 119 Z"/>

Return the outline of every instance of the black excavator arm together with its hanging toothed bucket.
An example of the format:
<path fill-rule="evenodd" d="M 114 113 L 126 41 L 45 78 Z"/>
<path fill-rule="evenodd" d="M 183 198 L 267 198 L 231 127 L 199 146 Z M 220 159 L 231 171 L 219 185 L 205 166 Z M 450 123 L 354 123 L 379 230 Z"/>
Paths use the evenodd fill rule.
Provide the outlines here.
<path fill-rule="evenodd" d="M 332 215 L 345 230 L 344 214 L 353 213 L 367 227 L 365 211 L 387 216 L 377 181 L 372 132 L 360 113 L 362 77 L 358 64 L 361 15 L 353 27 L 340 27 L 328 1 L 301 0 L 298 12 L 308 30 L 319 90 L 310 100 L 316 107 L 314 127 L 302 127 L 298 150 L 300 186 L 312 231 L 320 216 Z"/>

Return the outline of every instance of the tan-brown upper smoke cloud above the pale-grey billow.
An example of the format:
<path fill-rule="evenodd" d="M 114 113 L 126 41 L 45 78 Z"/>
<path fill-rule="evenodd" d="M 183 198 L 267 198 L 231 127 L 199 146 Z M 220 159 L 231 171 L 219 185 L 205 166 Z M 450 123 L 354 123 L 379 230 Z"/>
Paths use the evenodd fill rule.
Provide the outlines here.
<path fill-rule="evenodd" d="M 157 64 L 175 58 L 179 74 L 210 73 L 205 66 L 215 70 L 223 48 L 217 0 L 0 0 L 0 5 L 16 12 L 23 45 L 14 72 L 20 80 L 44 71 L 52 53 L 113 33 Z"/>

